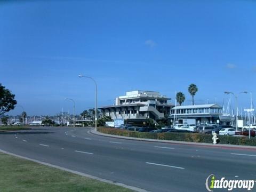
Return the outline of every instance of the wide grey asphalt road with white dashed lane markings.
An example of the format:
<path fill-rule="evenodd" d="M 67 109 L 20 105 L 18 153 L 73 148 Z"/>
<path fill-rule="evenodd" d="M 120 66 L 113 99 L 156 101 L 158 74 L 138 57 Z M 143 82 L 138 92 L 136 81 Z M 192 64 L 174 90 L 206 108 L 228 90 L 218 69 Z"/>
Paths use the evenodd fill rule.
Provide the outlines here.
<path fill-rule="evenodd" d="M 206 191 L 210 174 L 256 180 L 255 150 L 132 141 L 89 130 L 37 127 L 1 132 L 0 149 L 149 191 Z"/>

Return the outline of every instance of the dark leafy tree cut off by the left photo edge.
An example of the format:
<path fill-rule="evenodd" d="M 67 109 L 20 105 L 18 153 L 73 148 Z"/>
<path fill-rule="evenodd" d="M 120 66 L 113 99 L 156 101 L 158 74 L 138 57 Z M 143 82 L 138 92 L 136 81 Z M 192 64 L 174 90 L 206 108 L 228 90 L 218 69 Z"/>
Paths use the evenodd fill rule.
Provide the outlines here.
<path fill-rule="evenodd" d="M 10 90 L 5 89 L 0 83 L 0 115 L 14 109 L 17 101 L 14 99 L 15 95 Z"/>

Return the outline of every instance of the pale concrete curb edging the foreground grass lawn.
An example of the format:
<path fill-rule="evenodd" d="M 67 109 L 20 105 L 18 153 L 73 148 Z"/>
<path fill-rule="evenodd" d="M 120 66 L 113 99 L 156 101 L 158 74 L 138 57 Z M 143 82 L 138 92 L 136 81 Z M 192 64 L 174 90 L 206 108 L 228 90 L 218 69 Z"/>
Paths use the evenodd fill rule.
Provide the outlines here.
<path fill-rule="evenodd" d="M 22 158 L 22 159 L 26 159 L 26 160 L 29 160 L 29 161 L 33 161 L 33 162 L 36 162 L 36 163 L 39 163 L 39 164 L 42 164 L 42 165 L 54 167 L 54 168 L 62 170 L 62 171 L 68 171 L 70 173 L 81 175 L 83 177 L 87 177 L 87 178 L 90 178 L 90 179 L 95 179 L 95 180 L 98 180 L 98 181 L 101 181 L 101 182 L 110 183 L 110 184 L 113 184 L 113 185 L 116 185 L 116 186 L 120 186 L 120 187 L 124 187 L 124 188 L 127 188 L 127 189 L 131 189 L 131 190 L 134 190 L 134 191 L 150 192 L 148 190 L 141 189 L 141 188 L 138 188 L 138 187 L 133 187 L 133 186 L 125 185 L 124 183 L 119 183 L 119 182 L 110 181 L 110 180 L 107 180 L 107 179 L 102 179 L 102 178 L 95 177 L 95 176 L 90 175 L 90 174 L 86 174 L 86 173 L 70 170 L 70 169 L 67 169 L 65 167 L 61 167 L 61 166 L 58 166 L 58 165 L 53 165 L 53 164 L 42 162 L 42 161 L 38 161 L 36 159 L 32 159 L 32 158 L 29 158 L 29 157 L 24 157 L 24 156 L 21 156 L 21 155 L 13 154 L 13 153 L 10 153 L 10 152 L 2 150 L 2 149 L 0 149 L 0 152 L 2 152 L 4 154 L 15 156 L 15 157 L 19 157 L 19 158 Z"/>

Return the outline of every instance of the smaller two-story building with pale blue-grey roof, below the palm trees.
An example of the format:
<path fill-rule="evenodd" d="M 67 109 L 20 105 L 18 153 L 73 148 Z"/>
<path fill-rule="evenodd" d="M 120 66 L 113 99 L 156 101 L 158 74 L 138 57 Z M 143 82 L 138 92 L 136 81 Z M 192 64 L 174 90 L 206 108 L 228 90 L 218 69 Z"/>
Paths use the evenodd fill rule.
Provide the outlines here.
<path fill-rule="evenodd" d="M 230 114 L 223 114 L 222 107 L 217 104 L 176 106 L 171 109 L 170 118 L 193 118 L 197 124 L 230 124 L 234 120 Z"/>

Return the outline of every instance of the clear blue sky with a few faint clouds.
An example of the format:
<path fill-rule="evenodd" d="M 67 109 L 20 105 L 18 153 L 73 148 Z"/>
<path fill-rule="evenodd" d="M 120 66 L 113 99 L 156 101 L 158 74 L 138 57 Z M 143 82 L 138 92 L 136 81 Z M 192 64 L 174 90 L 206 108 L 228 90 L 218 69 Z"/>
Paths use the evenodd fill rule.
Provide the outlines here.
<path fill-rule="evenodd" d="M 0 83 L 28 115 L 76 112 L 129 90 L 172 98 L 198 86 L 196 103 L 224 91 L 256 97 L 254 1 L 1 1 Z M 233 99 L 234 103 L 234 99 Z M 239 95 L 249 107 L 250 95 Z M 21 109 L 10 111 L 20 114 Z"/>

